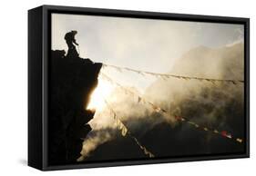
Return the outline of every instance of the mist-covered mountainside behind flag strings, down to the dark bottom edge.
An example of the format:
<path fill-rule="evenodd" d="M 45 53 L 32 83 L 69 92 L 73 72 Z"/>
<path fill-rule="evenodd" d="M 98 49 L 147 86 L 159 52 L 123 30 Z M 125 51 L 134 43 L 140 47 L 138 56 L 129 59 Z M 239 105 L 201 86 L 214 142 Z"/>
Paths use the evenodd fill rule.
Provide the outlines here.
<path fill-rule="evenodd" d="M 220 48 L 199 46 L 183 54 L 169 73 L 216 79 L 243 80 L 244 44 Z M 132 89 L 136 92 L 136 88 Z M 161 79 L 148 86 L 143 97 L 164 108 L 169 113 L 163 116 L 154 112 L 136 96 L 117 89 L 111 104 L 120 120 L 138 141 L 156 157 L 179 157 L 195 154 L 243 152 L 244 143 L 177 122 L 174 115 L 220 132 L 230 132 L 244 139 L 244 85 L 243 83 L 210 83 L 177 78 Z M 112 118 L 106 112 L 106 118 Z M 138 159 L 145 155 L 128 136 L 121 136 L 115 125 L 93 130 L 93 149 L 82 151 L 86 161 Z M 106 135 L 108 134 L 108 140 Z M 97 140 L 96 140 L 97 139 Z M 92 145 L 84 142 L 84 148 Z"/>

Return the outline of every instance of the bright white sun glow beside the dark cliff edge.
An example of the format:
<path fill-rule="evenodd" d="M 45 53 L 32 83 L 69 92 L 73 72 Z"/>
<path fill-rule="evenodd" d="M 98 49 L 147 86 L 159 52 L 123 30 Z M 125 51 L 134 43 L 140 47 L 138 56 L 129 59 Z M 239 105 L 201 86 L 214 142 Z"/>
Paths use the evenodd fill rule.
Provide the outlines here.
<path fill-rule="evenodd" d="M 87 109 L 95 109 L 97 111 L 102 111 L 106 103 L 104 99 L 108 99 L 108 96 L 113 91 L 113 86 L 106 80 L 98 79 L 97 87 L 90 96 L 90 102 Z"/>

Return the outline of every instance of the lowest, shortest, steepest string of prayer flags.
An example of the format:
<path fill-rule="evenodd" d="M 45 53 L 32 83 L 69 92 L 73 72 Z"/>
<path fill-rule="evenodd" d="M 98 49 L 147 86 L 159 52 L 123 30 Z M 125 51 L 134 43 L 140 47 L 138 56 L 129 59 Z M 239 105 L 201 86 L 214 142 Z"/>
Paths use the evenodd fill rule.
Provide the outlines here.
<path fill-rule="evenodd" d="M 128 128 L 126 127 L 126 125 L 125 125 L 123 122 L 121 122 L 121 121 L 119 120 L 117 113 L 113 110 L 113 108 L 110 106 L 110 104 L 107 102 L 107 100 L 105 99 L 104 101 L 105 101 L 105 103 L 106 103 L 106 105 L 107 105 L 109 111 L 110 111 L 111 113 L 113 113 L 113 118 L 114 118 L 114 120 L 115 120 L 115 122 L 116 122 L 116 124 L 117 124 L 117 126 L 118 126 L 118 130 L 121 131 L 122 136 L 126 136 L 126 134 L 128 134 L 128 136 L 129 136 L 134 142 L 136 142 L 136 144 L 139 146 L 139 149 L 140 149 L 146 156 L 148 156 L 149 158 L 154 158 L 155 155 L 154 155 L 152 152 L 149 152 L 146 147 L 144 147 L 140 142 L 138 142 L 138 139 L 137 139 L 134 135 L 132 135 L 131 132 L 128 131 Z"/>

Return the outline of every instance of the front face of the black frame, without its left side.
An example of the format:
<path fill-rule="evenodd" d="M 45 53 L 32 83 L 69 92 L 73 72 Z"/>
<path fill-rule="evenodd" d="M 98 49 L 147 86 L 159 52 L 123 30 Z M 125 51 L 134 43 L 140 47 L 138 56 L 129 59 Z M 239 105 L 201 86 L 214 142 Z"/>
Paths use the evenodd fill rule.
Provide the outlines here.
<path fill-rule="evenodd" d="M 250 158 L 250 18 L 244 17 L 229 17 L 229 16 L 213 16 L 213 15 L 184 15 L 184 14 L 170 14 L 159 12 L 142 12 L 142 11 L 128 11 L 116 9 L 101 9 L 101 8 L 88 8 L 88 7 L 74 7 L 74 6 L 58 6 L 58 5 L 42 5 L 43 7 L 43 48 L 42 48 L 42 140 L 43 140 L 43 166 L 42 171 L 54 170 L 67 170 L 67 169 L 83 169 L 83 168 L 97 168 L 97 167 L 112 167 L 112 166 L 128 166 L 128 165 L 141 165 L 141 164 L 157 164 L 169 162 L 183 162 L 183 161 L 210 161 L 210 160 L 226 160 L 226 159 L 239 159 Z M 67 165 L 50 166 L 47 163 L 47 104 L 48 104 L 48 58 L 50 52 L 50 15 L 55 13 L 61 14 L 84 14 L 84 15 L 108 15 L 120 17 L 138 17 L 150 19 L 168 19 L 180 21 L 197 21 L 209 23 L 225 23 L 225 24 L 244 24 L 244 98 L 245 98 L 245 152 L 234 154 L 215 154 L 205 156 L 191 156 L 180 158 L 168 159 L 153 159 L 153 160 L 136 160 L 136 161 L 97 161 L 94 163 L 77 163 Z"/>

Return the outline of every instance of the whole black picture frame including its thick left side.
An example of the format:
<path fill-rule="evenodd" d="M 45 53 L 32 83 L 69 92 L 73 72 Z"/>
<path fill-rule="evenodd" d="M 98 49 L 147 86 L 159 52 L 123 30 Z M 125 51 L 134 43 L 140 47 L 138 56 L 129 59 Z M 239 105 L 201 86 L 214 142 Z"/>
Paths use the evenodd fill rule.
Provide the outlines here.
<path fill-rule="evenodd" d="M 245 152 L 229 155 L 191 155 L 133 161 L 97 161 L 51 166 L 47 162 L 48 59 L 51 51 L 51 14 L 104 15 L 244 25 Z M 208 161 L 250 157 L 250 19 L 211 15 L 181 15 L 157 12 L 42 5 L 28 11 L 28 165 L 42 171 L 177 161 Z"/>

